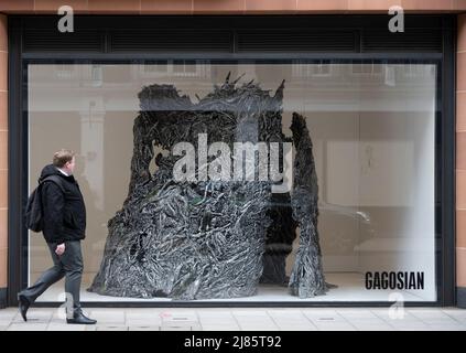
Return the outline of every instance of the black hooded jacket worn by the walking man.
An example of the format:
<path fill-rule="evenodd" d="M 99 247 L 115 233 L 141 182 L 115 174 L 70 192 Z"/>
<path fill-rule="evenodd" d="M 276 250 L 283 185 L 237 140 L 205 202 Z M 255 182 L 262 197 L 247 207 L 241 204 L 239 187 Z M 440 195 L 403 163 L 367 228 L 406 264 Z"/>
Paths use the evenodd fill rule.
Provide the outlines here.
<path fill-rule="evenodd" d="M 86 206 L 83 194 L 73 175 L 66 176 L 55 165 L 45 165 L 39 182 L 46 176 L 58 175 L 65 193 L 53 181 L 41 186 L 44 225 L 42 233 L 47 243 L 80 240 L 86 233 Z"/>

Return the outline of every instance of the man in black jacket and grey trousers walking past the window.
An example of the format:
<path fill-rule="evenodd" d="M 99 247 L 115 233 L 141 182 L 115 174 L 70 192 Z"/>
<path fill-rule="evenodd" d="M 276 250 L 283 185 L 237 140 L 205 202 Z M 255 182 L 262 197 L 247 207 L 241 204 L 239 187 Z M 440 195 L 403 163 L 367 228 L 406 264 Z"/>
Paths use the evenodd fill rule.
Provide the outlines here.
<path fill-rule="evenodd" d="M 37 281 L 18 293 L 20 312 L 26 321 L 31 303 L 48 287 L 65 277 L 66 322 L 94 324 L 79 303 L 83 275 L 80 240 L 85 238 L 86 207 L 79 186 L 73 176 L 75 153 L 62 149 L 54 153 L 53 164 L 45 165 L 39 182 L 43 207 L 43 235 L 54 266 L 41 275 Z M 52 178 L 51 178 L 52 176 Z M 47 180 L 45 180 L 47 179 Z M 45 180 L 45 181 L 44 181 Z"/>

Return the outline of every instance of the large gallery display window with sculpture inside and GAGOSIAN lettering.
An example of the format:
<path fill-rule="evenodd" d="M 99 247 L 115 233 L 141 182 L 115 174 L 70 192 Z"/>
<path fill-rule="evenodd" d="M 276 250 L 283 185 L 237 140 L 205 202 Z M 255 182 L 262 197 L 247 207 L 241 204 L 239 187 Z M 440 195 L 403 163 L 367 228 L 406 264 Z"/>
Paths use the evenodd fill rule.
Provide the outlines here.
<path fill-rule="evenodd" d="M 29 191 L 55 150 L 77 152 L 82 300 L 437 300 L 436 62 L 50 61 L 25 72 Z M 283 190 L 259 192 L 258 175 L 199 180 L 195 133 L 207 148 L 290 142 L 279 148 Z M 194 146 L 191 183 L 161 172 L 173 172 L 177 142 Z M 312 200 L 300 204 L 303 180 Z M 29 234 L 28 254 L 32 284 L 50 266 L 41 235 Z M 63 300 L 62 288 L 40 300 Z"/>

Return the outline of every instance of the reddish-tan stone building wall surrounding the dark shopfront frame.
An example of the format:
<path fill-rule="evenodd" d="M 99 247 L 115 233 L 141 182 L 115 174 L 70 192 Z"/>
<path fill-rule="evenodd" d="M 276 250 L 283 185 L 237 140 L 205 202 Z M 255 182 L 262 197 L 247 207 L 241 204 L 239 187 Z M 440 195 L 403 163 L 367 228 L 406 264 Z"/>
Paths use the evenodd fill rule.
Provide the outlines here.
<path fill-rule="evenodd" d="M 8 254 L 8 34 L 7 17 L 56 13 L 62 0 L 0 2 L 0 306 L 7 288 Z M 387 13 L 399 4 L 405 12 L 466 12 L 466 0 L 69 0 L 86 14 L 270 14 Z M 466 306 L 466 14 L 458 14 L 456 77 L 456 279 L 458 300 Z"/>

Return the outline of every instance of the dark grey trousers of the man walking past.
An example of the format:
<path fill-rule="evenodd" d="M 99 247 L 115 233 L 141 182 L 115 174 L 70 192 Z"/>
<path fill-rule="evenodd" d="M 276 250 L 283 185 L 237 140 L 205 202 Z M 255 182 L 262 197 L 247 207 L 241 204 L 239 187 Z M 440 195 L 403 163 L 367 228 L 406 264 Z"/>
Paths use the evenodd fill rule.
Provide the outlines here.
<path fill-rule="evenodd" d="M 47 245 L 54 266 L 43 272 L 33 286 L 24 289 L 20 295 L 32 303 L 48 287 L 65 277 L 65 291 L 73 296 L 73 309 L 79 310 L 79 288 L 83 276 L 80 240 L 65 242 L 65 253 L 62 256 L 55 254 L 56 243 L 47 243 Z M 69 302 L 66 304 L 67 308 L 69 308 L 68 304 Z M 68 314 L 71 314 L 69 311 Z"/>

